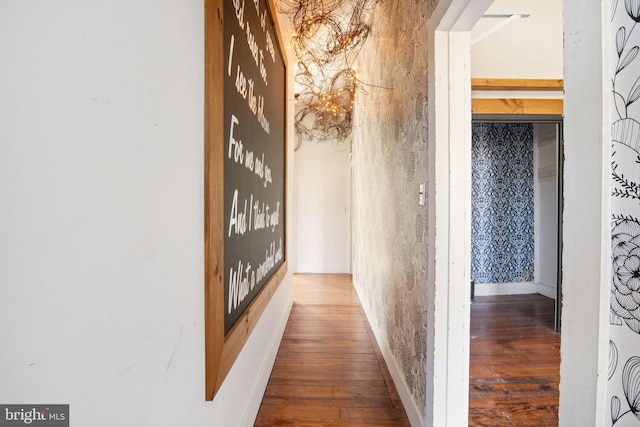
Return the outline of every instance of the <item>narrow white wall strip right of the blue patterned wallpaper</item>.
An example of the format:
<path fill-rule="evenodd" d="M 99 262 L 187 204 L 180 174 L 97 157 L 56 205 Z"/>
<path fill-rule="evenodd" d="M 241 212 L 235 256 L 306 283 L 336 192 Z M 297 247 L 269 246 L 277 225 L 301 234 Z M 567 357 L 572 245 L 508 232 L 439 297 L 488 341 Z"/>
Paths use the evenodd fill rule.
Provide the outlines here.
<path fill-rule="evenodd" d="M 538 293 L 556 298 L 558 266 L 558 177 L 556 125 L 533 125 L 535 153 L 535 269 Z"/>

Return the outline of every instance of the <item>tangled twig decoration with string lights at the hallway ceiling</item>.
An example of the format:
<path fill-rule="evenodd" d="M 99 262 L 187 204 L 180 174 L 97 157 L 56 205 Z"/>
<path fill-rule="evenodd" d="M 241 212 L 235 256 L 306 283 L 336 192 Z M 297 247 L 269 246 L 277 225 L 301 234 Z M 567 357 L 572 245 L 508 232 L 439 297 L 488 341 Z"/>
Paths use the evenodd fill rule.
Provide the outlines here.
<path fill-rule="evenodd" d="M 302 140 L 344 141 L 351 134 L 353 69 L 369 36 L 370 11 L 380 0 L 281 0 L 291 19 L 296 70 L 296 149 Z"/>

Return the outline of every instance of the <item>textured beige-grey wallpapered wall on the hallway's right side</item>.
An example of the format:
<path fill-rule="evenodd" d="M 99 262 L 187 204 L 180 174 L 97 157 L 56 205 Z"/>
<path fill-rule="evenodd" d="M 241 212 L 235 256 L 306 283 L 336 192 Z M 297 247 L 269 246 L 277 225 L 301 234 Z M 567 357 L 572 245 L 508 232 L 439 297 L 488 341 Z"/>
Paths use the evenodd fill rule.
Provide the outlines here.
<path fill-rule="evenodd" d="M 427 28 L 436 0 L 378 4 L 359 57 L 353 132 L 354 285 L 416 406 L 426 401 Z M 424 414 L 422 414 L 424 417 Z"/>

